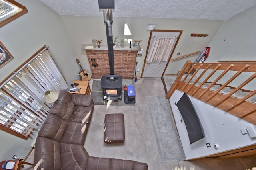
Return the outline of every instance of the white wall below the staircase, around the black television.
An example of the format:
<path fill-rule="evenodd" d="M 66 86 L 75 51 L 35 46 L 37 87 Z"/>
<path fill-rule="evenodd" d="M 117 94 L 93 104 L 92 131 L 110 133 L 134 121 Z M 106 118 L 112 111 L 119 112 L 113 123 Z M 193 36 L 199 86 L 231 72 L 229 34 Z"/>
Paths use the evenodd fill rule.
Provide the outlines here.
<path fill-rule="evenodd" d="M 176 90 L 169 101 L 186 159 L 200 158 L 256 143 L 256 138 L 250 138 L 248 133 L 243 135 L 240 131 L 251 123 L 189 96 L 205 134 L 203 139 L 190 145 L 185 123 L 180 121 L 180 112 L 174 104 L 183 94 Z M 211 147 L 207 147 L 206 143 L 210 143 Z M 215 144 L 219 145 L 219 149 L 214 148 Z"/>

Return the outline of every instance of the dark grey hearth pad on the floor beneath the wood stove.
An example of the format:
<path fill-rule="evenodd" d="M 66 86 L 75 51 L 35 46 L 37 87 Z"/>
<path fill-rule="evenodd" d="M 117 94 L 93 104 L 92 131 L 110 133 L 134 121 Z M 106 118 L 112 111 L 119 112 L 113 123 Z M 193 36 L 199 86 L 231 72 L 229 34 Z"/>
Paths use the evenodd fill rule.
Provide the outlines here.
<path fill-rule="evenodd" d="M 124 98 L 124 91 L 123 87 L 125 85 L 133 85 L 133 80 L 123 80 L 122 83 L 122 100 L 115 100 L 110 103 L 110 105 L 135 105 L 135 98 L 136 94 L 134 96 L 134 100 L 128 101 L 127 98 Z M 102 87 L 100 84 L 100 79 L 95 79 L 93 80 L 92 84 L 92 92 L 91 96 L 94 101 L 95 105 L 107 105 L 107 101 L 103 100 L 103 92 L 102 92 Z"/>

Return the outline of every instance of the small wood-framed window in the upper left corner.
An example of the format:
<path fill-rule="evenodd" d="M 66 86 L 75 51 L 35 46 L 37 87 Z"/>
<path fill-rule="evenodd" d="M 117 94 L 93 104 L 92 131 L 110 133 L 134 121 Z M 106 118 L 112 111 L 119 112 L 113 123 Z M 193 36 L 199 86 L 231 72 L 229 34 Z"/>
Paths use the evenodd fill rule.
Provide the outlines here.
<path fill-rule="evenodd" d="M 28 10 L 14 0 L 0 0 L 0 27 L 27 13 Z"/>

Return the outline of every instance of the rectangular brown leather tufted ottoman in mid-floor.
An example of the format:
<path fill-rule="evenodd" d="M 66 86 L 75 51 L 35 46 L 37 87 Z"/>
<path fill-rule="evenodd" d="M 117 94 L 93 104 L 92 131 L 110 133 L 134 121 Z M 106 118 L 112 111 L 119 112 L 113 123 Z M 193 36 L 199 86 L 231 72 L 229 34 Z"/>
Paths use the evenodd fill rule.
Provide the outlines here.
<path fill-rule="evenodd" d="M 106 114 L 104 123 L 105 143 L 124 143 L 124 114 Z"/>

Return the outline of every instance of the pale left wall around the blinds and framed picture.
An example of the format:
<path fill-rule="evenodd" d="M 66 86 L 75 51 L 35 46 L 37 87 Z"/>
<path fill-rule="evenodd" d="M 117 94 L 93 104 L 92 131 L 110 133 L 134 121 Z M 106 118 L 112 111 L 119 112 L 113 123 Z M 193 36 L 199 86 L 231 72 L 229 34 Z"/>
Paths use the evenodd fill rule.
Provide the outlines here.
<path fill-rule="evenodd" d="M 54 59 L 66 80 L 72 78 L 72 68 L 76 67 L 73 49 L 66 36 L 60 15 L 45 6 L 40 0 L 16 0 L 26 6 L 28 13 L 0 28 L 0 41 L 5 45 L 14 59 L 0 68 L 0 81 L 12 73 L 20 64 L 31 57 L 44 45 L 49 45 Z M 74 58 L 70 60 L 70 58 Z M 4 131 L 0 131 L 0 160 L 12 158 L 14 154 L 27 155 L 30 145 L 37 134 L 24 140 Z"/>

